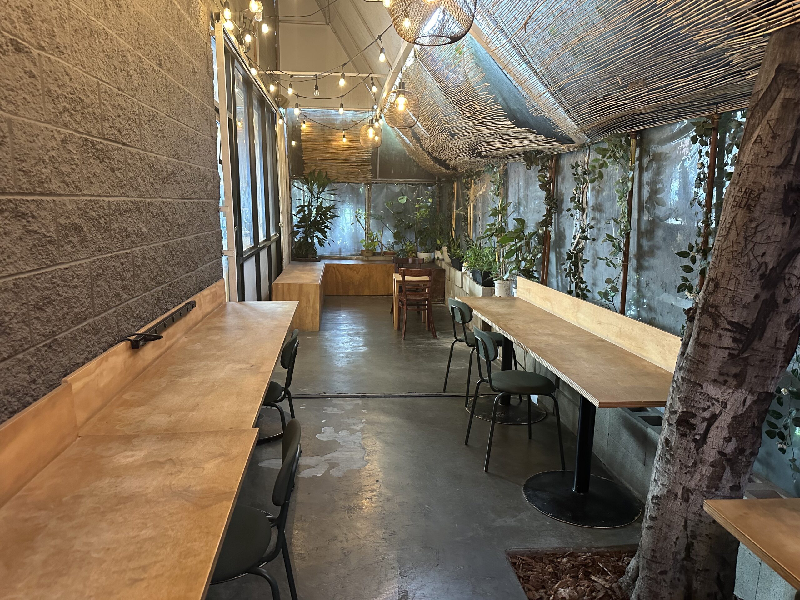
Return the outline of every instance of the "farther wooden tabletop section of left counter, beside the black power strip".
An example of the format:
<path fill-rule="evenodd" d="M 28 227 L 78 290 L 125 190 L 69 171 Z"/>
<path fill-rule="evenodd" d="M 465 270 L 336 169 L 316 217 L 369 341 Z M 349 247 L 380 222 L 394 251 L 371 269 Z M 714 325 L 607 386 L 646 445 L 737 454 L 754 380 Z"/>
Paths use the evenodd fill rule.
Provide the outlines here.
<path fill-rule="evenodd" d="M 79 434 L 252 427 L 297 306 L 225 302 L 112 398 Z"/>

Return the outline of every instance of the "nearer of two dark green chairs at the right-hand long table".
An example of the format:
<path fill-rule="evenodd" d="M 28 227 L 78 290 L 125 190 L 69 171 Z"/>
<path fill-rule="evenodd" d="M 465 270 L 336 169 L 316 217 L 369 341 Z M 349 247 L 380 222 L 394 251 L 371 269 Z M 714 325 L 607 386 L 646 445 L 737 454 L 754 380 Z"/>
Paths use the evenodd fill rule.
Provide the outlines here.
<path fill-rule="evenodd" d="M 503 396 L 528 396 L 528 439 L 532 436 L 530 422 L 530 396 L 550 396 L 553 398 L 555 421 L 558 426 L 558 450 L 561 452 L 561 470 L 566 470 L 564 463 L 564 443 L 561 438 L 561 414 L 558 411 L 558 400 L 555 397 L 555 384 L 544 375 L 530 373 L 526 370 L 507 370 L 492 373 L 492 361 L 498 358 L 498 343 L 487 331 L 474 330 L 475 346 L 478 350 L 478 383 L 475 384 L 475 393 L 472 397 L 472 408 L 470 409 L 470 422 L 466 426 L 466 438 L 464 444 L 470 442 L 470 430 L 472 429 L 472 418 L 475 415 L 475 405 L 478 403 L 478 390 L 482 383 L 488 383 L 491 390 L 497 394 L 494 398 L 494 408 L 492 409 L 492 424 L 489 430 L 489 442 L 486 444 L 486 461 L 483 464 L 483 472 L 489 470 L 489 457 L 492 451 L 492 438 L 494 437 L 494 420 L 497 417 L 498 404 Z M 481 369 L 481 359 L 486 366 L 486 375 Z"/>

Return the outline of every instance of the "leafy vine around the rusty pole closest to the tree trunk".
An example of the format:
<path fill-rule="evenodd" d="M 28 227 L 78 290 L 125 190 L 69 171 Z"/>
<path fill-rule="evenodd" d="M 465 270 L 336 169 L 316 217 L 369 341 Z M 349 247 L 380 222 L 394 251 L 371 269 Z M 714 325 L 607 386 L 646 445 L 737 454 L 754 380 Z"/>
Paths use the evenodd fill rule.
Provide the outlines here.
<path fill-rule="evenodd" d="M 726 139 L 722 153 L 723 189 L 726 189 L 727 182 L 730 182 L 730 178 L 734 174 L 736 158 L 738 157 L 739 146 L 742 144 L 742 134 L 744 134 L 746 112 L 746 110 L 742 110 L 741 113 L 725 114 L 719 122 L 719 133 L 720 135 L 725 135 Z M 695 119 L 692 121 L 692 125 L 694 125 L 694 134 L 692 134 L 691 142 L 698 144 L 698 163 L 697 174 L 694 178 L 694 192 L 689 204 L 694 209 L 697 228 L 694 241 L 689 242 L 686 250 L 680 250 L 675 254 L 688 261 L 681 265 L 683 274 L 680 276 L 681 282 L 678 284 L 678 294 L 686 294 L 686 298 L 694 302 L 700 293 L 698 279 L 706 276 L 711 250 L 714 248 L 714 239 L 717 237 L 717 222 L 722 211 L 724 194 L 718 198 L 711 210 L 706 210 L 703 198 L 707 192 L 710 140 L 713 126 L 711 120 L 706 117 Z M 708 243 L 704 248 L 702 238 L 706 226 L 709 228 L 709 236 Z"/>

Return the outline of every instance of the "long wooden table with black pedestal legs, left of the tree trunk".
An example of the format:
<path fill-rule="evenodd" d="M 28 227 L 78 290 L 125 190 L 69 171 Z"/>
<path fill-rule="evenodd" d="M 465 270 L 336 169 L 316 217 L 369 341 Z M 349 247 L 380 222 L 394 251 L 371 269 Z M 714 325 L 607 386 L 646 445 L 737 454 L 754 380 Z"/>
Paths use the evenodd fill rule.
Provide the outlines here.
<path fill-rule="evenodd" d="M 665 406 L 672 374 L 522 298 L 459 299 L 505 336 L 504 357 L 517 344 L 581 394 L 574 474 L 534 475 L 524 487 L 528 502 L 575 525 L 634 521 L 639 502 L 614 482 L 591 474 L 595 413 L 598 408 Z"/>

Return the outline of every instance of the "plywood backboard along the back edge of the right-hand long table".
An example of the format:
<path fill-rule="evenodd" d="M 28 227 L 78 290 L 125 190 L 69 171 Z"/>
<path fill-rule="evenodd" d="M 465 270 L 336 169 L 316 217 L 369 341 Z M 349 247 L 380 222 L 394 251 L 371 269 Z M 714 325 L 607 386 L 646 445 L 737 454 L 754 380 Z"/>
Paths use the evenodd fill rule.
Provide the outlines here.
<path fill-rule="evenodd" d="M 517 297 L 625 348 L 670 373 L 675 370 L 675 361 L 681 349 L 681 338 L 677 335 L 522 277 L 517 279 Z"/>

